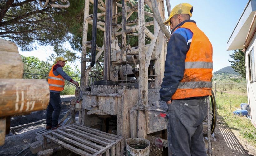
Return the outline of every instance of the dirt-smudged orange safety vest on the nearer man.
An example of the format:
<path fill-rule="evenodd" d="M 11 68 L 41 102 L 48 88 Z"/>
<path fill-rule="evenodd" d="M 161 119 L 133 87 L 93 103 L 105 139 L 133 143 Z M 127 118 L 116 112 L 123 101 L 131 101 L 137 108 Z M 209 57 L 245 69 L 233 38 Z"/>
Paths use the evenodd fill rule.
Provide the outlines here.
<path fill-rule="evenodd" d="M 186 22 L 180 27 L 189 29 L 193 37 L 185 59 L 184 76 L 172 99 L 212 95 L 212 44 L 195 23 Z"/>

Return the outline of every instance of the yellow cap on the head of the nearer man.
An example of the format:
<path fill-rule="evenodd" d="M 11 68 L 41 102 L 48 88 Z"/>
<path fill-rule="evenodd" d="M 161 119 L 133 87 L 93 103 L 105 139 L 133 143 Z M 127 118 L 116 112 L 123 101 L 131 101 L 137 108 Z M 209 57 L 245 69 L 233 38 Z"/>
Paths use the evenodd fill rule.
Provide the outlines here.
<path fill-rule="evenodd" d="M 192 16 L 193 12 L 193 6 L 190 5 L 189 3 L 181 3 L 176 5 L 171 13 L 169 18 L 164 22 L 165 25 L 170 24 L 170 20 L 174 15 L 179 15 L 179 14 L 189 14 L 190 17 Z"/>

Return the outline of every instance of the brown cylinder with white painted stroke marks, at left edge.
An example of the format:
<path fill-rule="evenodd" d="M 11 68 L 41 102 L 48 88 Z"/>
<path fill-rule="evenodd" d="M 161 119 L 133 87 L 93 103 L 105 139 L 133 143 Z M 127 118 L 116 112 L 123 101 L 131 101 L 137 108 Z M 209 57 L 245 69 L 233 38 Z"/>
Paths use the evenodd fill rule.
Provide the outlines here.
<path fill-rule="evenodd" d="M 0 117 L 47 108 L 49 85 L 42 79 L 0 79 Z"/>

